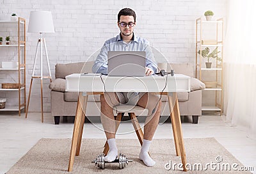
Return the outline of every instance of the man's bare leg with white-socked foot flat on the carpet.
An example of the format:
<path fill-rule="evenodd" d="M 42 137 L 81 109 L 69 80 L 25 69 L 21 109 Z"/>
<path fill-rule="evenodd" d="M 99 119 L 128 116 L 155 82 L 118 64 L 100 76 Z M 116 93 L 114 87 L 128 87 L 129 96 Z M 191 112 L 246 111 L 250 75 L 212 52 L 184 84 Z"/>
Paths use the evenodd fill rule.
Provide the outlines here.
<path fill-rule="evenodd" d="M 138 101 L 138 106 L 148 109 L 148 115 L 144 126 L 144 139 L 139 159 L 148 167 L 154 166 L 156 162 L 148 155 L 148 150 L 154 133 L 156 132 L 161 113 L 161 100 L 157 95 L 145 93 Z"/>

